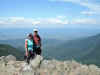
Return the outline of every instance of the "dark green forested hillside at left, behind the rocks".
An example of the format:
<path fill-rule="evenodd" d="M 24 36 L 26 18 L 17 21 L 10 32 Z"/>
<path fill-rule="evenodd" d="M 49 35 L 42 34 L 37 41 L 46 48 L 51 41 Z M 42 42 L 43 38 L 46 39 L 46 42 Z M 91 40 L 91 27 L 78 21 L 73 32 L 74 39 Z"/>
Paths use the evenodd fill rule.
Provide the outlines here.
<path fill-rule="evenodd" d="M 17 60 L 22 60 L 24 57 L 24 53 L 22 51 L 7 44 L 0 44 L 0 56 L 7 56 L 11 54 L 16 56 Z"/>

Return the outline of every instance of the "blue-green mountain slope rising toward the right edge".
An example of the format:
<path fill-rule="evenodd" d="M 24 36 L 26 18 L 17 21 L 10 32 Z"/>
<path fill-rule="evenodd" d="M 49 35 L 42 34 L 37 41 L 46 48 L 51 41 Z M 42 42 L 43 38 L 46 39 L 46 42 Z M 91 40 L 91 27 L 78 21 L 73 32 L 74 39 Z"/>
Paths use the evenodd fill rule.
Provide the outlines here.
<path fill-rule="evenodd" d="M 100 34 L 66 41 L 58 46 L 48 48 L 45 57 L 56 58 L 58 60 L 75 59 L 83 63 L 100 64 Z"/>

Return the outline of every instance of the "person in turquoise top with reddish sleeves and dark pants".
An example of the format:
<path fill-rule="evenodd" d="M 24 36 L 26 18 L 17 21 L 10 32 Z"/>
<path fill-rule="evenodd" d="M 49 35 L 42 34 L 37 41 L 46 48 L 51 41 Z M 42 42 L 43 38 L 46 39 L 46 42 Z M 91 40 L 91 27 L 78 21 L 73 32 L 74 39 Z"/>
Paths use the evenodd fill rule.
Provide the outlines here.
<path fill-rule="evenodd" d="M 28 38 L 25 39 L 25 51 L 26 51 L 25 59 L 28 64 L 30 63 L 30 59 L 33 59 L 35 56 L 33 46 L 34 46 L 33 35 L 30 33 L 28 34 Z"/>

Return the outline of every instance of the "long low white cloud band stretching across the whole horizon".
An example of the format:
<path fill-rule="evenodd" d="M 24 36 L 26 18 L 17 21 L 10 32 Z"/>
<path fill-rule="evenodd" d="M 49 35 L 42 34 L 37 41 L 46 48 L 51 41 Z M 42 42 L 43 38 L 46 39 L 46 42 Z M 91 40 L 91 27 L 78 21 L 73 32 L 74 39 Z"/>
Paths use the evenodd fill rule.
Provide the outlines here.
<path fill-rule="evenodd" d="M 79 25 L 96 25 L 100 24 L 99 20 L 93 18 L 73 18 L 68 20 L 66 16 L 57 16 L 49 18 L 25 18 L 25 17 L 8 17 L 0 18 L 0 28 L 30 28 L 40 27 L 77 27 Z"/>

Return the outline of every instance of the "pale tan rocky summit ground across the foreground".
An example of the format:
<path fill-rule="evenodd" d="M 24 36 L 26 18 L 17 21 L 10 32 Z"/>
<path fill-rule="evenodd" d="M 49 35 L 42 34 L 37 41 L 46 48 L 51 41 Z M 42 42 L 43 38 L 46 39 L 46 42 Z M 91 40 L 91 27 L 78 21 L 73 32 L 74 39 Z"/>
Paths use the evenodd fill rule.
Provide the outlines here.
<path fill-rule="evenodd" d="M 100 75 L 100 68 L 76 61 L 45 60 L 42 56 L 36 56 L 28 65 L 8 55 L 0 57 L 0 75 Z"/>

